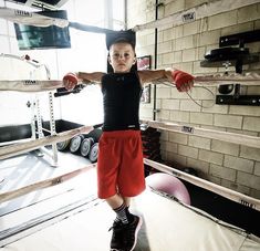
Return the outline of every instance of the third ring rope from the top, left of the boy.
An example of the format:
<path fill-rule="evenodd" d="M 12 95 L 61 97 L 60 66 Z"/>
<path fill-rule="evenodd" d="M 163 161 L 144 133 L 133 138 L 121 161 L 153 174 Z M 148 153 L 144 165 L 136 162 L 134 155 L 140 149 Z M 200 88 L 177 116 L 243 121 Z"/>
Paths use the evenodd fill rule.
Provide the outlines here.
<path fill-rule="evenodd" d="M 38 149 L 42 146 L 52 145 L 52 144 L 55 144 L 59 142 L 67 140 L 79 134 L 83 134 L 83 133 L 87 134 L 91 130 L 93 130 L 94 128 L 100 127 L 101 125 L 102 124 L 97 124 L 94 126 L 82 126 L 82 127 L 79 127 L 75 129 L 59 133 L 56 135 L 45 136 L 43 138 L 39 138 L 35 140 L 30 140 L 27 143 L 21 143 L 21 144 L 15 144 L 15 145 L 3 146 L 0 148 L 0 160 L 12 157 L 12 156 L 17 156 L 19 154 L 28 153 L 30 150 Z"/>

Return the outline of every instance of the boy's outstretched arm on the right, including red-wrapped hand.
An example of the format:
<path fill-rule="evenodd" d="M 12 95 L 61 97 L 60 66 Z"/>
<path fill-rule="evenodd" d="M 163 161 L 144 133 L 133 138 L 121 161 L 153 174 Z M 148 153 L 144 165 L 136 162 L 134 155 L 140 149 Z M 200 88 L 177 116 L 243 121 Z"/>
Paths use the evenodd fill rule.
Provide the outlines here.
<path fill-rule="evenodd" d="M 138 71 L 142 84 L 156 80 L 168 81 L 176 85 L 179 92 L 187 92 L 194 86 L 194 76 L 179 70 Z"/>

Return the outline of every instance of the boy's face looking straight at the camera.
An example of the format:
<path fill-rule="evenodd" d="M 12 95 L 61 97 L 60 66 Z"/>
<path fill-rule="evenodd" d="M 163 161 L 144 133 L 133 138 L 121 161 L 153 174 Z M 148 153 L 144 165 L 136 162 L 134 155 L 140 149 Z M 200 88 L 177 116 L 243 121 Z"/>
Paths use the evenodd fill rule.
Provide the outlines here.
<path fill-rule="evenodd" d="M 111 45 L 108 62 L 115 73 L 129 72 L 136 62 L 135 52 L 129 43 L 118 42 Z"/>

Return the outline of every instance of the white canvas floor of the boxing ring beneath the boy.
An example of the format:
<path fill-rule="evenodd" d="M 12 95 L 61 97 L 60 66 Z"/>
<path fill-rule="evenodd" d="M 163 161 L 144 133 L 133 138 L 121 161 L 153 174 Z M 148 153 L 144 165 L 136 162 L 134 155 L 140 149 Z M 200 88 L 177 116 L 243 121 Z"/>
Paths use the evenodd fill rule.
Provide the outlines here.
<path fill-rule="evenodd" d="M 53 209 L 53 203 L 64 206 L 67 199 L 75 196 L 80 198 L 79 194 L 82 196 L 83 192 L 81 189 L 69 194 L 30 206 L 30 212 L 35 216 L 35 211 L 45 209 L 46 205 L 49 210 Z M 28 208 L 22 210 L 6 216 L 6 220 L 9 217 L 13 223 L 14 219 L 29 212 Z M 258 237 L 149 188 L 133 200 L 132 210 L 144 220 L 136 251 L 257 251 L 260 248 Z M 15 234 L 4 232 L 7 238 L 1 238 L 0 243 L 3 247 L 0 250 L 31 251 L 35 247 L 38 250 L 50 251 L 107 250 L 111 239 L 107 230 L 113 220 L 114 213 L 104 201 L 91 196 L 82 197 L 80 201 L 66 205 L 65 208 L 45 211 L 43 217 L 31 219 L 27 222 L 27 228 L 21 223 L 19 229 L 9 229 Z"/>

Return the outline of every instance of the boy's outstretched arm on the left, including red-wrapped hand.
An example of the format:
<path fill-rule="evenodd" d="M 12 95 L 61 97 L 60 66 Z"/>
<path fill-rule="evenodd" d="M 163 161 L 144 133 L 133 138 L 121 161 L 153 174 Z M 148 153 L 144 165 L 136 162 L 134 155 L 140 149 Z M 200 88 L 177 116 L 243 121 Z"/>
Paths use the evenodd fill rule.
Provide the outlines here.
<path fill-rule="evenodd" d="M 66 73 L 63 79 L 63 85 L 66 90 L 73 90 L 79 82 L 83 82 L 85 84 L 87 83 L 101 83 L 101 79 L 104 75 L 103 72 L 92 72 L 92 73 L 86 73 L 86 72 L 76 72 L 76 73 Z"/>

